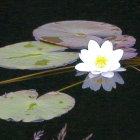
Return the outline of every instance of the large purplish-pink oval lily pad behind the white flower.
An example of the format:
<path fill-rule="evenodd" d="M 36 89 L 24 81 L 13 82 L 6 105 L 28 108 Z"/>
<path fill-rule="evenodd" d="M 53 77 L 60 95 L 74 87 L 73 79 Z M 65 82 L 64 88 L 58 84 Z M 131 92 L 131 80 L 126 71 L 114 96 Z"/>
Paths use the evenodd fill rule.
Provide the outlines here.
<path fill-rule="evenodd" d="M 101 44 L 101 37 L 121 34 L 121 29 L 115 25 L 84 20 L 48 23 L 33 31 L 36 40 L 76 49 L 87 48 L 89 40 Z"/>

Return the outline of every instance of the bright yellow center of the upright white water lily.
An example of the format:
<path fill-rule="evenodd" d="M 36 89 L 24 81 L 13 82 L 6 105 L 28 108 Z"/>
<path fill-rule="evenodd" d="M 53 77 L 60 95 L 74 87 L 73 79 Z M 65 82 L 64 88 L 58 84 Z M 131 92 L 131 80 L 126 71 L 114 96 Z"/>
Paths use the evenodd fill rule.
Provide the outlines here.
<path fill-rule="evenodd" d="M 95 61 L 95 65 L 98 68 L 104 68 L 107 65 L 106 57 L 98 56 Z"/>

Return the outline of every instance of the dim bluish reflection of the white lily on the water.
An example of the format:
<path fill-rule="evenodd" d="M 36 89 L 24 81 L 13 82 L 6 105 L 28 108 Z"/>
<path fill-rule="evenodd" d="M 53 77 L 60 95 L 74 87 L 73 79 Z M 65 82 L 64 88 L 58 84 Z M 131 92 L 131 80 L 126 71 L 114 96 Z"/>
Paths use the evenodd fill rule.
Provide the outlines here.
<path fill-rule="evenodd" d="M 84 72 L 78 72 L 76 76 L 81 76 L 83 74 L 86 74 Z M 113 88 L 116 88 L 116 84 L 124 84 L 124 80 L 122 76 L 115 72 L 114 76 L 112 78 L 106 78 L 102 75 L 98 75 L 96 77 L 92 77 L 91 74 L 88 74 L 87 77 L 84 80 L 84 83 L 82 85 L 82 88 L 90 88 L 91 90 L 98 91 L 100 88 L 103 88 L 105 91 L 111 91 Z"/>

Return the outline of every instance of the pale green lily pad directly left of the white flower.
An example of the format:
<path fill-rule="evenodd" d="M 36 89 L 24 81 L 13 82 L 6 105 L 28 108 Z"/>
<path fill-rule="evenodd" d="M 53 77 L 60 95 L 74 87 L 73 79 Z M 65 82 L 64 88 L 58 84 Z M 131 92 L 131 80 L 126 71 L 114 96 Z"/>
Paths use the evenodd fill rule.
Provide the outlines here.
<path fill-rule="evenodd" d="M 40 41 L 8 45 L 0 48 L 0 67 L 38 70 L 63 66 L 78 59 L 78 53 L 63 52 L 65 49 Z"/>

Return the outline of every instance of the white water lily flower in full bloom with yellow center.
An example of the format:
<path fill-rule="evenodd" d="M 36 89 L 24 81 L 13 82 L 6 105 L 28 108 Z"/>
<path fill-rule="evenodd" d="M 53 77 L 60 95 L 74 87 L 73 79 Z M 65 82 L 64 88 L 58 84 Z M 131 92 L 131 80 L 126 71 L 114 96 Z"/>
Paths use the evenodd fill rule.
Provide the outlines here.
<path fill-rule="evenodd" d="M 113 50 L 110 41 L 105 41 L 100 47 L 96 41 L 90 40 L 88 50 L 82 49 L 79 54 L 83 63 L 77 64 L 75 69 L 90 72 L 95 77 L 101 74 L 104 77 L 111 78 L 114 76 L 114 71 L 125 71 L 119 63 L 122 56 L 123 50 Z"/>

